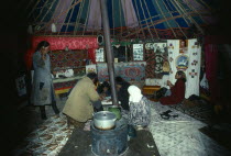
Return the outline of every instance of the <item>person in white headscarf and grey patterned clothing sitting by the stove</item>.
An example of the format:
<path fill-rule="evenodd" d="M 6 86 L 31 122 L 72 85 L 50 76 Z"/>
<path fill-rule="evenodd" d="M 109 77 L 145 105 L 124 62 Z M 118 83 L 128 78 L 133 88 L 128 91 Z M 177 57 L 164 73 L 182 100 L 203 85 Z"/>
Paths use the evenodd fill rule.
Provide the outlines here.
<path fill-rule="evenodd" d="M 129 97 L 129 124 L 138 129 L 146 127 L 151 121 L 150 101 L 141 92 L 136 86 L 128 88 Z"/>

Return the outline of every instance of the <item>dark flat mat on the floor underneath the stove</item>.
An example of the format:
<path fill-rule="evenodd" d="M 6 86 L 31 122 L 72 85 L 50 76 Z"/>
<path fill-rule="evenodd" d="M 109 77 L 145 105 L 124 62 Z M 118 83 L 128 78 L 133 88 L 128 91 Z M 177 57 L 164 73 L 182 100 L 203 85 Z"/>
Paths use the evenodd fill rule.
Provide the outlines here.
<path fill-rule="evenodd" d="M 150 131 L 136 132 L 136 137 L 128 142 L 129 148 L 121 156 L 160 156 Z M 91 152 L 91 132 L 75 129 L 58 156 L 95 156 Z"/>

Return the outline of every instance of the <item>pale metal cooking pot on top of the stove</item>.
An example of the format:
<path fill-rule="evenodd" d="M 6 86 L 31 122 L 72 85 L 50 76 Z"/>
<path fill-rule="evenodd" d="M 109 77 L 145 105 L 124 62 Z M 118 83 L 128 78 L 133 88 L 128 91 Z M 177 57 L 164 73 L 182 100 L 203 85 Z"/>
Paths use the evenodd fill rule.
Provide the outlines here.
<path fill-rule="evenodd" d="M 100 130 L 111 130 L 116 125 L 117 115 L 109 111 L 94 113 L 94 125 Z"/>

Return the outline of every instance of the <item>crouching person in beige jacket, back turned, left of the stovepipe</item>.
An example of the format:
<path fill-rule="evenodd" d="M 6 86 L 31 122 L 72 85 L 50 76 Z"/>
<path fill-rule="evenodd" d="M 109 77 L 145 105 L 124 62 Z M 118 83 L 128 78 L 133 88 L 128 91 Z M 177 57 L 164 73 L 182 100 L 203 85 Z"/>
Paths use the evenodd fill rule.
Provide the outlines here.
<path fill-rule="evenodd" d="M 101 98 L 96 91 L 97 74 L 89 73 L 80 79 L 70 91 L 63 113 L 67 115 L 67 124 L 84 129 L 85 123 L 92 118 L 94 108 L 102 109 Z"/>

